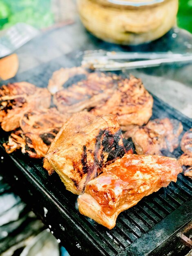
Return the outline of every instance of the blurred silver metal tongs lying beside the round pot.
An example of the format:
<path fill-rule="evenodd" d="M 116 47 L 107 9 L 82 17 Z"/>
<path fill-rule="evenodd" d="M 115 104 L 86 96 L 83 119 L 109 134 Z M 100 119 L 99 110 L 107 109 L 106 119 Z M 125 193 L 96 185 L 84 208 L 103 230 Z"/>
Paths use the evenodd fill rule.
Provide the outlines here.
<path fill-rule="evenodd" d="M 136 60 L 138 61 L 130 61 Z M 129 60 L 129 61 L 125 61 Z M 143 67 L 156 67 L 163 63 L 191 62 L 192 54 L 169 52 L 107 52 L 104 50 L 85 51 L 82 65 L 100 71 L 116 71 Z"/>

